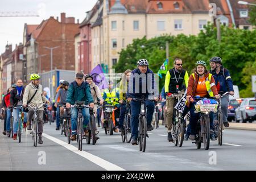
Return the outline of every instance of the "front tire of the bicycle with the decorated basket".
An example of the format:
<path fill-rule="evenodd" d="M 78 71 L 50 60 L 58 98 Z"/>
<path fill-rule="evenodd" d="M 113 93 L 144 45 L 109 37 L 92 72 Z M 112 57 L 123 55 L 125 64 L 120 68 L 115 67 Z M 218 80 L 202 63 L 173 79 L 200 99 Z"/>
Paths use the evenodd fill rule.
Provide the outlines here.
<path fill-rule="evenodd" d="M 209 115 L 204 115 L 203 116 L 203 121 L 202 121 L 202 126 L 203 127 L 203 142 L 204 142 L 204 149 L 208 150 L 210 146 L 210 118 Z"/>

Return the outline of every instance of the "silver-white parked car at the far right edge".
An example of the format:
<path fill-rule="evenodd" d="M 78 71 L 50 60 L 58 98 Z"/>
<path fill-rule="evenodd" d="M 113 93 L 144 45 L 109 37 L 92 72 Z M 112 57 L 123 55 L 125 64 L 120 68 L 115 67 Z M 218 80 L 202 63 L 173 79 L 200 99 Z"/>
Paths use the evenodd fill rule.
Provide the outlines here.
<path fill-rule="evenodd" d="M 253 122 L 256 120 L 256 98 L 245 98 L 235 112 L 236 122 Z"/>

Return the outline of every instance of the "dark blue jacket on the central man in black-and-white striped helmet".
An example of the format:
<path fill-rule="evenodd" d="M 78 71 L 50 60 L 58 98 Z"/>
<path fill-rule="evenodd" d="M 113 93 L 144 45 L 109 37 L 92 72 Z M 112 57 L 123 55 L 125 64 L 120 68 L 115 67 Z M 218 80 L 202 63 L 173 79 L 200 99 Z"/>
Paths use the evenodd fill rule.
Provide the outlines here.
<path fill-rule="evenodd" d="M 153 94 L 153 93 L 149 93 L 148 89 L 147 89 L 147 86 L 151 85 L 151 89 L 155 91 L 155 93 L 154 93 L 155 97 L 158 97 L 158 95 L 159 95 L 158 89 L 155 89 L 156 85 L 154 85 L 155 84 L 154 72 L 152 72 L 151 69 L 147 68 L 147 72 L 145 73 L 146 79 L 143 79 L 143 80 L 142 80 L 142 78 L 139 78 L 139 80 L 138 79 L 135 80 L 136 75 L 133 76 L 133 74 L 136 74 L 136 73 L 139 76 L 142 74 L 141 71 L 139 71 L 139 68 L 136 68 L 131 72 L 126 96 L 130 97 L 130 98 L 141 98 L 142 96 L 145 96 L 147 98 L 148 95 Z M 152 82 L 151 83 L 149 83 L 150 80 L 147 79 L 148 73 L 152 74 Z M 135 93 L 135 83 L 137 86 L 139 86 L 139 88 L 136 88 L 136 91 L 138 91 L 137 93 Z M 150 84 L 150 85 L 148 85 L 148 84 Z M 143 88 L 142 88 L 142 86 L 143 86 Z M 145 86 L 146 86 L 146 88 L 144 88 Z M 132 90 L 129 89 L 131 87 L 133 88 Z M 146 92 L 144 92 L 145 89 L 146 89 Z"/>

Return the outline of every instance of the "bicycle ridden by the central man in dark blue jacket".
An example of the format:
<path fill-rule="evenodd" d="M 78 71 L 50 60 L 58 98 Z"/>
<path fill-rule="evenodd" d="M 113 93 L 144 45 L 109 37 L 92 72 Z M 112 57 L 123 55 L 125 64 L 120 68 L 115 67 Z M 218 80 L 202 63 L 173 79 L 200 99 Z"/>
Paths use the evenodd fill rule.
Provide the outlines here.
<path fill-rule="evenodd" d="M 138 142 L 139 142 L 139 151 L 145 152 L 146 150 L 146 141 L 148 138 L 147 134 L 147 118 L 146 118 L 146 107 L 144 102 L 149 100 L 149 101 L 154 101 L 150 99 L 144 98 L 132 98 L 134 101 L 139 101 L 141 102 L 141 113 L 139 113 L 139 135 L 138 135 Z"/>

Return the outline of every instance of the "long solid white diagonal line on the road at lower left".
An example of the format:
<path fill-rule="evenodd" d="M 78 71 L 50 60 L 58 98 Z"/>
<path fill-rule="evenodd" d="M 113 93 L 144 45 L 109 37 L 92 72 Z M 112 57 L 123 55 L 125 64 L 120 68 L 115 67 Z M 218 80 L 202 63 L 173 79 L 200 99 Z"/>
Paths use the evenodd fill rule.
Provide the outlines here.
<path fill-rule="evenodd" d="M 98 166 L 100 166 L 108 171 L 125 171 L 125 169 L 123 169 L 113 163 L 110 163 L 104 159 L 101 159 L 100 157 L 98 157 L 96 155 L 92 155 L 89 152 L 85 152 L 85 151 L 79 151 L 79 150 L 77 150 L 77 147 L 72 146 L 72 144 L 68 144 L 67 142 L 64 142 L 63 140 L 52 137 L 51 135 L 47 135 L 46 133 L 43 133 L 43 137 L 46 137 L 47 139 L 52 140 L 53 142 L 55 142 L 57 144 L 60 144 L 61 146 L 67 148 L 68 150 L 74 152 L 75 154 L 78 154 L 78 155 L 82 156 L 83 158 L 90 160 L 94 164 L 97 164 Z"/>

